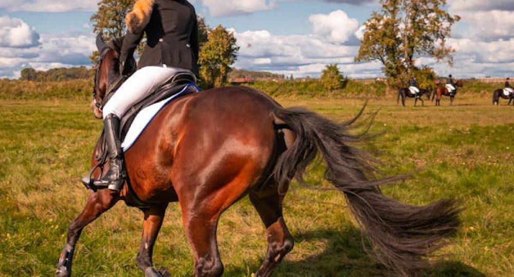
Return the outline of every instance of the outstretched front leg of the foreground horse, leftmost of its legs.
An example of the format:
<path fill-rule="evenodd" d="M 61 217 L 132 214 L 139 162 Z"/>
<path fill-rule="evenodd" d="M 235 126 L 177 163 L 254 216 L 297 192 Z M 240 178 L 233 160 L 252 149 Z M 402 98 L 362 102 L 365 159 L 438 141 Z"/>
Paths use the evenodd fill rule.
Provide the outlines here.
<path fill-rule="evenodd" d="M 71 276 L 71 264 L 75 245 L 84 227 L 96 220 L 103 212 L 111 209 L 119 200 L 119 193 L 111 190 L 91 192 L 82 213 L 68 227 L 68 240 L 59 258 L 56 276 Z"/>

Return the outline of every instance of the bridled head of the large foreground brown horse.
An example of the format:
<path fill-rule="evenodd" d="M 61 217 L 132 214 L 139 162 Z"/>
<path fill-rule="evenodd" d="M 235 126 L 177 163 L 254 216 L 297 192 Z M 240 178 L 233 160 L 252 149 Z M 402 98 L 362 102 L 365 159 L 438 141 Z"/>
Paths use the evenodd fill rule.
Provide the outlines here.
<path fill-rule="evenodd" d="M 91 101 L 91 109 L 96 118 L 102 118 L 107 94 L 113 90 L 113 84 L 120 79 L 119 57 L 122 43 L 123 37 L 106 44 L 101 35 L 97 36 L 96 45 L 100 52 L 100 60 L 95 65 L 95 85 Z"/>

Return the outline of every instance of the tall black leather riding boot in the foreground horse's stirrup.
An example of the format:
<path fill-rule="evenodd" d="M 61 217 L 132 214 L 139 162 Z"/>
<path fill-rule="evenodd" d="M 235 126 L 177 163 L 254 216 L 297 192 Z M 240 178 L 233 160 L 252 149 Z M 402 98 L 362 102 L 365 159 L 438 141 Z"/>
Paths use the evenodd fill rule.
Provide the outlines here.
<path fill-rule="evenodd" d="M 120 191 L 125 183 L 123 168 L 123 150 L 119 139 L 120 118 L 109 114 L 103 122 L 107 157 L 109 158 L 109 171 L 100 179 L 93 182 L 98 188 L 108 188 Z"/>

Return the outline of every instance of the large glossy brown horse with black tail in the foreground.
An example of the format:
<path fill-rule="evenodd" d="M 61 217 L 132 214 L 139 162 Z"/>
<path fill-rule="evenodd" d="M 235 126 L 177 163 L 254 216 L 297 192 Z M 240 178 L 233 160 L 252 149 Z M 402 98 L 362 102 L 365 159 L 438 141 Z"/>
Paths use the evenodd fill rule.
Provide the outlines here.
<path fill-rule="evenodd" d="M 100 49 L 102 50 L 102 49 Z M 100 63 L 94 103 L 101 103 L 116 80 L 118 49 L 107 49 Z M 92 105 L 101 117 L 98 105 Z M 358 117 L 358 116 L 357 116 Z M 166 106 L 125 153 L 130 182 L 121 193 L 90 192 L 83 212 L 71 223 L 57 276 L 70 276 L 75 245 L 83 228 L 119 200 L 139 199 L 144 213 L 137 265 L 158 277 L 152 250 L 170 202 L 179 202 L 194 256 L 195 276 L 220 276 L 216 228 L 222 212 L 249 195 L 266 227 L 268 250 L 256 276 L 269 276 L 293 248 L 282 217 L 291 179 L 302 175 L 317 153 L 326 162 L 325 178 L 347 197 L 375 256 L 402 275 L 426 264 L 424 256 L 458 227 L 460 208 L 452 200 L 428 206 L 399 203 L 377 188 L 399 177 L 376 179 L 374 159 L 352 144 L 357 119 L 338 124 L 302 108 L 282 108 L 266 94 L 247 87 L 224 87 L 189 94 Z M 96 162 L 97 145 L 93 153 Z M 97 176 L 98 177 L 98 176 Z"/>

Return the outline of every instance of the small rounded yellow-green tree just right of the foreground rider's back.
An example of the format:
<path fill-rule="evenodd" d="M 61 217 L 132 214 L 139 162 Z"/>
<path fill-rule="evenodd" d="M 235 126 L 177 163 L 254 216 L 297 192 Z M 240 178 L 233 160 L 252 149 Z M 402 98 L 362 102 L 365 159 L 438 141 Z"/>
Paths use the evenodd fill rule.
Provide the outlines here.
<path fill-rule="evenodd" d="M 200 49 L 198 63 L 205 88 L 221 87 L 227 83 L 230 66 L 237 58 L 236 38 L 222 25 L 211 30 L 208 41 Z"/>

